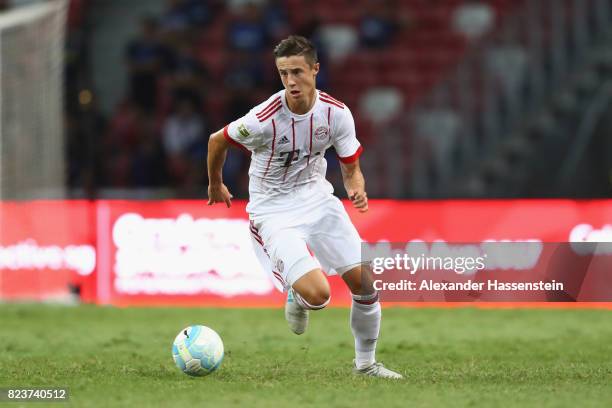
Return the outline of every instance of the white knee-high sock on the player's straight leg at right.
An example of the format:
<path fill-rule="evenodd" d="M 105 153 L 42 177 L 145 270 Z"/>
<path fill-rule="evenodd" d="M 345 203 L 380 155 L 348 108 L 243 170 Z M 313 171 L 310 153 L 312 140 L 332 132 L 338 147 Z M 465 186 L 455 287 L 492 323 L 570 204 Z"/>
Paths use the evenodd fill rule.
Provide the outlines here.
<path fill-rule="evenodd" d="M 355 337 L 355 365 L 365 368 L 376 361 L 376 341 L 380 331 L 378 293 L 353 295 L 351 331 Z"/>

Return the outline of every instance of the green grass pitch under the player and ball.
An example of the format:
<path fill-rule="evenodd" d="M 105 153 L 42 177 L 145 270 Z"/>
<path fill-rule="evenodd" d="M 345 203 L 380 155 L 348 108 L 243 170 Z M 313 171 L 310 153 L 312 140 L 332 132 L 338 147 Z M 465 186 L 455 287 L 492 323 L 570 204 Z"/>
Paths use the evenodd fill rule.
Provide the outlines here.
<path fill-rule="evenodd" d="M 0 387 L 69 387 L 56 407 L 612 406 L 611 313 L 387 308 L 377 357 L 407 379 L 385 381 L 351 374 L 346 309 L 295 336 L 281 309 L 0 305 Z M 172 361 L 194 323 L 225 343 L 208 377 Z"/>

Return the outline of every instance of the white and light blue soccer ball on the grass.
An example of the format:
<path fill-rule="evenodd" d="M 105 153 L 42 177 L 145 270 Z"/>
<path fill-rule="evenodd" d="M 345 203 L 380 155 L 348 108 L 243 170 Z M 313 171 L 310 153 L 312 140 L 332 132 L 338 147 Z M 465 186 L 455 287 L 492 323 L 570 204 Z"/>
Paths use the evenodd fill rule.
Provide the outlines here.
<path fill-rule="evenodd" d="M 202 377 L 215 371 L 223 361 L 223 341 L 213 329 L 189 326 L 176 336 L 172 357 L 182 372 Z"/>

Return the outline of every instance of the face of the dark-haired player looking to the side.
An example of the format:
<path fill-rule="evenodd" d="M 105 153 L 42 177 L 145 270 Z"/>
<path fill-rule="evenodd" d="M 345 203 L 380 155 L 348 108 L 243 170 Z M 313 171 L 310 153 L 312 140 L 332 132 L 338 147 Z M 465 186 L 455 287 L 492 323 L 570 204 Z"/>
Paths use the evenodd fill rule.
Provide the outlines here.
<path fill-rule="evenodd" d="M 294 55 L 277 58 L 276 67 L 287 90 L 287 98 L 293 102 L 303 103 L 312 97 L 319 63 L 310 65 L 303 55 Z"/>

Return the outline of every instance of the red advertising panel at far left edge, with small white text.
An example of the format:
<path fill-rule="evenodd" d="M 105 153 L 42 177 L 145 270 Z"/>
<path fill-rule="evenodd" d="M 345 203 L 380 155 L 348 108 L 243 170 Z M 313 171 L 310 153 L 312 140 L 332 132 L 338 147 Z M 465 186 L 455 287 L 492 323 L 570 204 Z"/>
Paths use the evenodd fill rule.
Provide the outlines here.
<path fill-rule="evenodd" d="M 94 205 L 0 202 L 0 300 L 95 300 Z"/>

